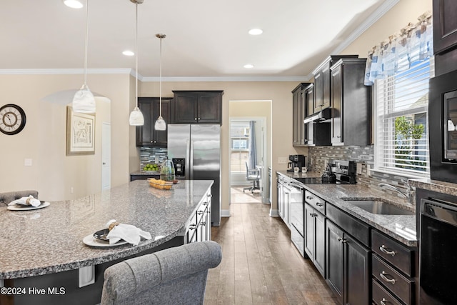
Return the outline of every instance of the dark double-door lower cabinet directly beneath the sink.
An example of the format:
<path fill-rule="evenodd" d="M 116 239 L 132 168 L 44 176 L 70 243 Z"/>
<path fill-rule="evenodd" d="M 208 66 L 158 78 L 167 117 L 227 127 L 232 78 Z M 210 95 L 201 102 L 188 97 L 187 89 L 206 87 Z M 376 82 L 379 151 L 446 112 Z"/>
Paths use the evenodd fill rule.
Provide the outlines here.
<path fill-rule="evenodd" d="M 327 283 L 339 304 L 370 304 L 370 250 L 327 219 Z"/>

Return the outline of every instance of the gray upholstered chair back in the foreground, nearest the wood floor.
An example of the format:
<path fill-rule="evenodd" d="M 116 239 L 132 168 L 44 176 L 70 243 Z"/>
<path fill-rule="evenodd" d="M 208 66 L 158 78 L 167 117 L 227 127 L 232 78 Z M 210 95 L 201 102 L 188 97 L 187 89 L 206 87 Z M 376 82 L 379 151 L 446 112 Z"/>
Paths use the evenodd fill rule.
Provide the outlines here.
<path fill-rule="evenodd" d="M 104 272 L 101 305 L 203 304 L 208 269 L 221 246 L 201 241 L 121 261 Z"/>

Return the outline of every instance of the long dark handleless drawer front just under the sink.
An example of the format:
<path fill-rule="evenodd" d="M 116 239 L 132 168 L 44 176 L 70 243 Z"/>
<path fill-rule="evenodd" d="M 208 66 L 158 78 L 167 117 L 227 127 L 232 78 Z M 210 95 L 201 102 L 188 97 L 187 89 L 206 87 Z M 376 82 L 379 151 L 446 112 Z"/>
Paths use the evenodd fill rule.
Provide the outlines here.
<path fill-rule="evenodd" d="M 331 219 L 335 224 L 341 227 L 348 234 L 352 235 L 361 244 L 370 247 L 370 228 L 367 224 L 353 218 L 353 216 L 346 214 L 331 204 L 326 206 L 326 216 Z"/>

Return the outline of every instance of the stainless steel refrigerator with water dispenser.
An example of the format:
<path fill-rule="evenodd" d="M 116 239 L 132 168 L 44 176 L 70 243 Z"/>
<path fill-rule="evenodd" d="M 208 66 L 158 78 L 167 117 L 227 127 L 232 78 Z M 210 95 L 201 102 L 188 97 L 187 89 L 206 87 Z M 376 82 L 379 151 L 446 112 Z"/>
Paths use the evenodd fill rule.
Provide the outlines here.
<path fill-rule="evenodd" d="M 221 224 L 221 126 L 169 124 L 168 156 L 177 179 L 214 180 L 211 224 Z"/>

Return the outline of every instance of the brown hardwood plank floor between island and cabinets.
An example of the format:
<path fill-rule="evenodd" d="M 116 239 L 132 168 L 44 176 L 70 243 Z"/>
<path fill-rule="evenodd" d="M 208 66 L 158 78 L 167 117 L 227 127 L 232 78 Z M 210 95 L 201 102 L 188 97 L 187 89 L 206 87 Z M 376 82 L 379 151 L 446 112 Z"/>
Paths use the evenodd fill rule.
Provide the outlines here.
<path fill-rule="evenodd" d="M 212 228 L 221 264 L 209 270 L 204 304 L 336 304 L 313 264 L 303 259 L 268 204 L 231 204 Z"/>

